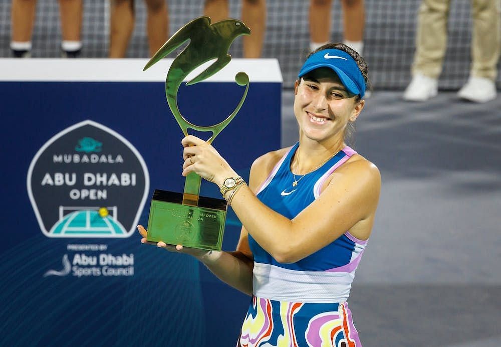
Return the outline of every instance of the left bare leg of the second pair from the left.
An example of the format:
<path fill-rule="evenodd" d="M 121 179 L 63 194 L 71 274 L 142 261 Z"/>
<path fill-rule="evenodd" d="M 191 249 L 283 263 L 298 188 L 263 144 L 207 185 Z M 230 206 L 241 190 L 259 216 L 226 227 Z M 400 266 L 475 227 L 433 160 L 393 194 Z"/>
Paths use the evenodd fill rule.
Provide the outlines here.
<path fill-rule="evenodd" d="M 110 58 L 123 58 L 134 30 L 134 0 L 111 1 Z"/>

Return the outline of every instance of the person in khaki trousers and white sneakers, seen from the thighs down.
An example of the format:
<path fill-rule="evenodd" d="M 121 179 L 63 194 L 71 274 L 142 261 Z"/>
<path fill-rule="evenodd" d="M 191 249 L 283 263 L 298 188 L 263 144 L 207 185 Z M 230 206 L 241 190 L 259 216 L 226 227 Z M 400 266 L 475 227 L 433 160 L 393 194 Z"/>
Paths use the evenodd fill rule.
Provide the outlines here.
<path fill-rule="evenodd" d="M 459 98 L 487 102 L 496 98 L 495 80 L 501 41 L 499 0 L 471 0 L 473 31 L 471 67 Z M 424 0 L 419 8 L 416 53 L 412 65 L 412 81 L 403 99 L 426 101 L 437 95 L 438 76 L 442 72 L 447 46 L 447 19 L 450 0 Z"/>

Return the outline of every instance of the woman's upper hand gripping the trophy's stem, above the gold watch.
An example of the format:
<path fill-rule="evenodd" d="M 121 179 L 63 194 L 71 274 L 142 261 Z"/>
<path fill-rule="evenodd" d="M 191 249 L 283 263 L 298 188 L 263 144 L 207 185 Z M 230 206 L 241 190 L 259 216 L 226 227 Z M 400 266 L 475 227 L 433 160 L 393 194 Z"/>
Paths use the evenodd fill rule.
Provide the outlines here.
<path fill-rule="evenodd" d="M 195 172 L 205 180 L 221 187 L 228 177 L 235 177 L 237 173 L 229 166 L 224 158 L 212 145 L 204 140 L 188 135 L 181 141 L 183 151 L 183 176 Z"/>

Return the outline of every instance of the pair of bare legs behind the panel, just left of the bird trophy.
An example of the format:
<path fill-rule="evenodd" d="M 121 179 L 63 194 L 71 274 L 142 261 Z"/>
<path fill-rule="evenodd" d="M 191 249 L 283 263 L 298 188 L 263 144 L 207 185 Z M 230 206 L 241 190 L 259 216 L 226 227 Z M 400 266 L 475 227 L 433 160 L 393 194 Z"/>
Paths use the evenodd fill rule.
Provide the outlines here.
<path fill-rule="evenodd" d="M 149 56 L 167 41 L 169 15 L 166 0 L 144 0 L 146 4 L 146 32 Z M 111 0 L 110 58 L 123 58 L 134 31 L 134 0 Z"/>

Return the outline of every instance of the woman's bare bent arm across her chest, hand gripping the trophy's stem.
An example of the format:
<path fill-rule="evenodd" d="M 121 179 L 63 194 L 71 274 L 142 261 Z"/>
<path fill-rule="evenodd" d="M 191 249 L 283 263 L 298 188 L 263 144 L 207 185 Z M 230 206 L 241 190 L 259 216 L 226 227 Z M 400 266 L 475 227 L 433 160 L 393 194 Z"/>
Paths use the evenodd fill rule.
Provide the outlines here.
<path fill-rule="evenodd" d="M 236 175 L 205 141 L 190 135 L 182 143 L 185 147 L 183 176 L 195 171 L 220 187 L 224 179 Z M 194 159 L 189 159 L 191 155 Z M 233 196 L 233 211 L 247 232 L 278 262 L 293 263 L 303 259 L 359 222 L 372 220 L 379 200 L 381 178 L 374 164 L 357 157 L 339 167 L 320 197 L 292 220 L 261 203 L 246 186 Z M 266 163 L 263 157 L 256 160 L 251 175 L 262 175 Z M 370 226 L 355 236 L 367 238 L 369 234 Z"/>

